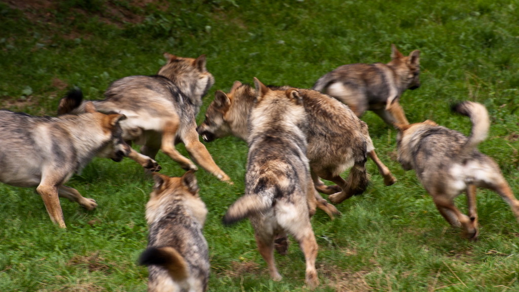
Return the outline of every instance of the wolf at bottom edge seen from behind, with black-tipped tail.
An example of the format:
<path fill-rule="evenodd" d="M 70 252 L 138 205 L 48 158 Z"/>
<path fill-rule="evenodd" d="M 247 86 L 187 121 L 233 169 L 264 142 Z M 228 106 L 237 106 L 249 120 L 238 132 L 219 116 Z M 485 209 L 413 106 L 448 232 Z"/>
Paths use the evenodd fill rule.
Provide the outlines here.
<path fill-rule="evenodd" d="M 148 247 L 139 259 L 148 266 L 148 291 L 206 291 L 210 265 L 202 228 L 207 209 L 194 172 L 180 178 L 155 173 L 153 178 L 146 204 Z"/>

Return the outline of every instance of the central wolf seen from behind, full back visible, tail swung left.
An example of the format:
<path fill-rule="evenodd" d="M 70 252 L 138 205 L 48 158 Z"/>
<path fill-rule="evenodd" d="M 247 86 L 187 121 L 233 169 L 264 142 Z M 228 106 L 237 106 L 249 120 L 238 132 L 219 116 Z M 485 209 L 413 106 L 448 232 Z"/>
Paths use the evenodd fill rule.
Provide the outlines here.
<path fill-rule="evenodd" d="M 292 234 L 306 259 L 306 283 L 318 285 L 317 242 L 310 224 L 316 202 L 308 158 L 308 118 L 298 89 L 272 90 L 254 78 L 256 103 L 249 115 L 249 154 L 245 194 L 229 207 L 228 225 L 251 220 L 260 254 L 274 280 L 281 280 L 274 264 L 275 239 Z"/>

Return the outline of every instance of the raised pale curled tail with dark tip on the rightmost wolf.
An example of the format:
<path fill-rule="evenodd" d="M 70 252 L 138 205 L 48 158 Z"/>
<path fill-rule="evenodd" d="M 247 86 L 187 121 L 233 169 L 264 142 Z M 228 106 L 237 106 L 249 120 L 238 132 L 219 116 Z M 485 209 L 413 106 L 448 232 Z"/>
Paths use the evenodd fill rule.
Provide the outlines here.
<path fill-rule="evenodd" d="M 490 127 L 488 112 L 483 104 L 472 101 L 463 101 L 455 104 L 452 110 L 470 117 L 470 122 L 472 122 L 469 139 L 463 145 L 460 153 L 462 157 L 468 157 L 476 149 L 477 145 L 487 137 L 488 128 Z"/>

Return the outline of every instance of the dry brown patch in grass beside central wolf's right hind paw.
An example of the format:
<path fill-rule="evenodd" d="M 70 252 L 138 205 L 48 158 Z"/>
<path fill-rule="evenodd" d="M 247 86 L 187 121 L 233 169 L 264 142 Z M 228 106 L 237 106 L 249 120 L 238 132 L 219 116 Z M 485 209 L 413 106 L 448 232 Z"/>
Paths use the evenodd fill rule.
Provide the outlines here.
<path fill-rule="evenodd" d="M 328 280 L 328 286 L 340 292 L 364 292 L 372 288 L 366 283 L 366 271 L 352 272 L 343 270 L 337 266 L 325 266 L 321 264 L 317 270 L 319 277 Z"/>

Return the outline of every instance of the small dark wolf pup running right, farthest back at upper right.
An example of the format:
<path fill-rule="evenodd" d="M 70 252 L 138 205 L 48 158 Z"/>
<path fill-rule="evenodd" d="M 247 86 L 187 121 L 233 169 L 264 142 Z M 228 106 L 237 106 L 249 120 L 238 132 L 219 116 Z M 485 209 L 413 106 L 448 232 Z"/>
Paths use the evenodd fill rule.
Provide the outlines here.
<path fill-rule="evenodd" d="M 400 96 L 407 88 L 420 87 L 419 74 L 420 51 L 404 56 L 391 44 L 389 63 L 342 65 L 319 78 L 313 89 L 347 104 L 358 117 L 370 110 L 390 126 L 408 125 Z"/>

